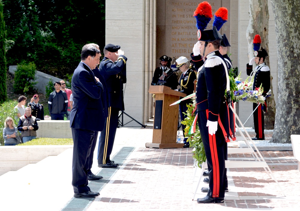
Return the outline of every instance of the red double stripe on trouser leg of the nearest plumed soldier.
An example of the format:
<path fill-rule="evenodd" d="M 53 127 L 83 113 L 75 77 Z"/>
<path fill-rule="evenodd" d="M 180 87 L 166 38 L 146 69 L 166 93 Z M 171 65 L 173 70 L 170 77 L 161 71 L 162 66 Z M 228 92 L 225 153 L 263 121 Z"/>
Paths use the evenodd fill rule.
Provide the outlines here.
<path fill-rule="evenodd" d="M 208 119 L 208 109 L 206 109 L 206 117 Z M 208 130 L 208 128 L 207 128 Z M 219 159 L 217 153 L 216 135 L 211 135 L 208 133 L 209 137 L 209 148 L 211 152 L 211 163 L 212 163 L 212 173 L 213 173 L 213 190 L 212 197 L 219 197 L 220 190 L 220 170 L 219 170 Z"/>

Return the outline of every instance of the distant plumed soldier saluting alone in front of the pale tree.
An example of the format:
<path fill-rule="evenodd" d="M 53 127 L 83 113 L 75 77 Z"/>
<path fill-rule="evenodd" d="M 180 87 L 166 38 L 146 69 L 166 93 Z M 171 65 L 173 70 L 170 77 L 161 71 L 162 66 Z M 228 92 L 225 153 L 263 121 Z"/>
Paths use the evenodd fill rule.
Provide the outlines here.
<path fill-rule="evenodd" d="M 265 57 L 268 56 L 268 53 L 265 49 L 261 48 L 261 51 L 254 50 L 254 56 L 255 57 L 253 57 L 250 60 L 250 62 L 247 64 L 247 75 L 254 77 L 253 90 L 255 90 L 257 87 L 259 87 L 262 84 L 263 87 L 262 96 L 265 97 L 271 86 L 270 68 L 265 64 Z M 257 64 L 254 70 L 253 70 L 253 61 Z M 253 110 L 255 110 L 256 107 L 257 107 L 257 103 L 253 103 Z M 265 104 L 259 104 L 258 108 L 253 113 L 254 130 L 256 133 L 256 136 L 252 138 L 253 140 L 265 139 L 264 112 L 267 112 L 266 100 L 265 100 Z"/>

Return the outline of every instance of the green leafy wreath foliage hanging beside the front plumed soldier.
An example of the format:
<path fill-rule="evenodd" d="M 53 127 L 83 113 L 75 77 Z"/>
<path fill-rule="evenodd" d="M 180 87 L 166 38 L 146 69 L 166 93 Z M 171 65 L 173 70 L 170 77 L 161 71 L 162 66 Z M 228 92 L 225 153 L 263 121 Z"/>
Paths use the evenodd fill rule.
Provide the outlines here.
<path fill-rule="evenodd" d="M 189 134 L 190 127 L 192 126 L 193 121 L 195 119 L 195 113 L 193 113 L 195 107 L 196 107 L 195 103 L 187 105 L 187 113 L 184 113 L 187 115 L 187 117 L 181 123 L 185 125 L 184 136 L 188 137 L 187 141 L 190 143 L 190 147 L 194 148 L 193 158 L 198 161 L 198 166 L 201 168 L 200 165 L 203 162 L 205 162 L 206 155 L 205 155 L 204 146 L 202 143 L 198 124 L 196 124 L 196 132 Z"/>

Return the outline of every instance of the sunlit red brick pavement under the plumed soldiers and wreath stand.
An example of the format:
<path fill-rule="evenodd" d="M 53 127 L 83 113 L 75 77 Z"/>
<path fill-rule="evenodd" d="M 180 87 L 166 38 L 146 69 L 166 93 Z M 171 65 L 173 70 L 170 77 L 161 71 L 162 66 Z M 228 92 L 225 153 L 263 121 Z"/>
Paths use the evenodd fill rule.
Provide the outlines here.
<path fill-rule="evenodd" d="M 292 151 L 263 151 L 262 154 L 286 197 L 262 168 L 239 168 L 227 172 L 231 184 L 225 203 L 198 204 L 191 200 L 196 186 L 192 149 L 136 148 L 87 210 L 298 208 L 300 174 Z M 229 157 L 249 159 L 244 154 Z M 207 184 L 201 182 L 199 187 L 202 186 Z M 199 188 L 196 198 L 203 196 Z"/>

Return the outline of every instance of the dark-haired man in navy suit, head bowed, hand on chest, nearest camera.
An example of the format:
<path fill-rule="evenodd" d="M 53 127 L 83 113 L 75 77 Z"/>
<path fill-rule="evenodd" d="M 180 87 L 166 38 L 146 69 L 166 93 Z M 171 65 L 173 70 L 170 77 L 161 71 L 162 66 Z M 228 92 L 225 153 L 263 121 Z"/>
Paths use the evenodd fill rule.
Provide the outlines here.
<path fill-rule="evenodd" d="M 104 87 L 92 72 L 100 63 L 100 51 L 93 45 L 84 45 L 81 62 L 72 77 L 73 108 L 70 127 L 73 136 L 72 185 L 74 197 L 96 197 L 88 187 L 88 169 L 95 131 L 102 131 L 105 110 L 101 101 Z"/>

